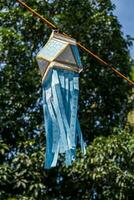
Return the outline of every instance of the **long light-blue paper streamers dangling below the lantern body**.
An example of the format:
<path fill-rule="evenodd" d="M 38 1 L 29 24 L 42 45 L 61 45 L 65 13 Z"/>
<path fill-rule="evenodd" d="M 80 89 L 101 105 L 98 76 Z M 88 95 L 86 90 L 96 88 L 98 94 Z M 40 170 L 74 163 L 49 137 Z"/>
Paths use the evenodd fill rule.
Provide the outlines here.
<path fill-rule="evenodd" d="M 69 166 L 76 157 L 77 140 L 85 154 L 85 143 L 77 118 L 79 74 L 53 68 L 48 80 L 43 83 L 45 168 L 55 167 L 60 153 L 65 154 L 66 166 Z"/>

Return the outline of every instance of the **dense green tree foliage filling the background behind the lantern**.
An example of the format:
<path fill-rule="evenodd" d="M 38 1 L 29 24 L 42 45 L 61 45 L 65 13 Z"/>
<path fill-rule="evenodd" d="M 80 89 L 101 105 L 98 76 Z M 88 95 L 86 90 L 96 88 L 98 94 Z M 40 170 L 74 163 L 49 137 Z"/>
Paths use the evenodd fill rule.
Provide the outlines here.
<path fill-rule="evenodd" d="M 25 1 L 100 57 L 133 77 L 132 59 L 110 0 Z M 82 52 L 79 118 L 87 154 L 44 170 L 41 78 L 35 56 L 51 30 L 15 0 L 0 3 L 0 198 L 132 199 L 134 137 L 126 127 L 132 89 Z"/>

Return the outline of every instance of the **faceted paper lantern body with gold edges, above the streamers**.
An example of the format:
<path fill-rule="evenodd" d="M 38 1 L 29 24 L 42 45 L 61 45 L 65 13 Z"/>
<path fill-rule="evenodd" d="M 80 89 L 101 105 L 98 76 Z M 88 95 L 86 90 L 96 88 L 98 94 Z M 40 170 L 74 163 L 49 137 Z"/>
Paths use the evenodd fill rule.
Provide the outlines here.
<path fill-rule="evenodd" d="M 36 59 L 42 75 L 52 62 L 71 66 L 72 69 L 73 67 L 82 68 L 76 40 L 55 31 L 52 32 L 46 45 L 39 51 Z"/>

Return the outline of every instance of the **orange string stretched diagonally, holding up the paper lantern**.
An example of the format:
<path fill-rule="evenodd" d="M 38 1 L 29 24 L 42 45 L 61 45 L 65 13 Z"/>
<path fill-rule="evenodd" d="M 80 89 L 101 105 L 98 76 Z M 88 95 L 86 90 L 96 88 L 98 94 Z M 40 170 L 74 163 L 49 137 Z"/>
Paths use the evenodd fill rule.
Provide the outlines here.
<path fill-rule="evenodd" d="M 26 3 L 22 2 L 21 0 L 16 0 L 18 3 L 20 3 L 23 7 L 25 7 L 28 11 L 30 11 L 33 16 L 36 16 L 37 18 L 39 18 L 41 21 L 43 21 L 45 24 L 47 24 L 47 26 L 51 29 L 57 29 L 58 27 L 56 27 L 53 23 L 51 23 L 50 21 L 48 21 L 45 17 L 41 16 L 39 13 L 37 13 L 35 10 L 33 10 L 32 8 L 30 8 Z M 66 37 L 71 37 L 69 35 L 67 35 L 66 33 L 62 33 L 63 35 L 65 35 Z M 111 68 L 118 76 L 120 76 L 121 78 L 125 79 L 130 85 L 134 85 L 134 82 L 129 80 L 126 76 L 124 76 L 121 72 L 119 72 L 118 70 L 115 69 L 115 67 L 111 66 L 110 64 L 108 64 L 107 62 L 105 62 L 104 60 L 102 60 L 99 56 L 97 56 L 95 53 L 91 52 L 88 48 L 86 48 L 85 46 L 83 46 L 80 42 L 77 42 L 77 45 L 83 49 L 84 51 L 86 51 L 88 54 L 90 54 L 92 57 L 96 58 L 100 63 L 102 63 L 103 65 Z"/>

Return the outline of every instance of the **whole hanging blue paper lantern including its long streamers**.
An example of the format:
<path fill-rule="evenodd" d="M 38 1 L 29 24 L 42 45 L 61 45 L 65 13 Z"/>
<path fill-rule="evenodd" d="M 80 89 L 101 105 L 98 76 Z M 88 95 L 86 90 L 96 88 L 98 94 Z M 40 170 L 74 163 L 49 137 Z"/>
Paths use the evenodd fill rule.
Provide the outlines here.
<path fill-rule="evenodd" d="M 82 63 L 76 40 L 53 31 L 37 54 L 37 62 L 43 86 L 45 168 L 56 166 L 59 153 L 65 154 L 66 166 L 69 166 L 75 160 L 78 141 L 85 154 L 85 143 L 77 117 Z"/>

